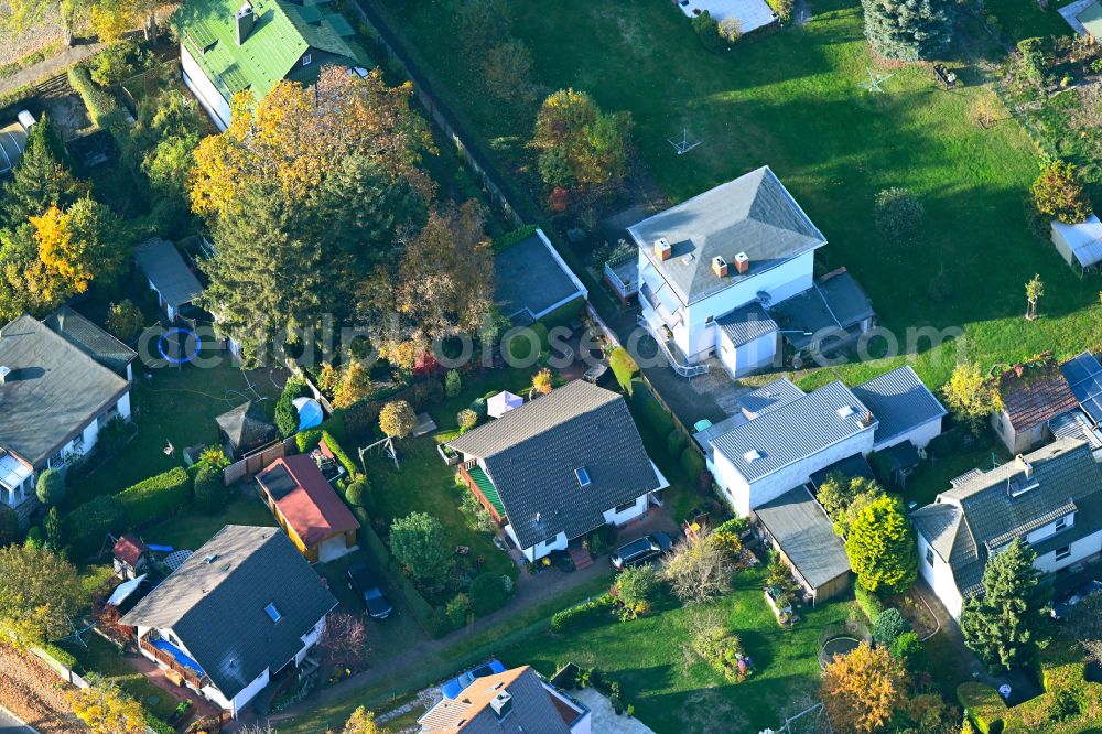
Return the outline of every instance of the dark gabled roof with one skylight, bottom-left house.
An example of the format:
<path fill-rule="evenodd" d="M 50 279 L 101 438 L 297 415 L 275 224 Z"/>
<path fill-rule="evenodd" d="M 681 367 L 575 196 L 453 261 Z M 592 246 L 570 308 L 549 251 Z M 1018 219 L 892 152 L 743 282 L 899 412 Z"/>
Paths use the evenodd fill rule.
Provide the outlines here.
<path fill-rule="evenodd" d="M 269 604 L 279 622 L 264 612 Z M 282 530 L 227 525 L 121 622 L 171 628 L 231 699 L 266 668 L 274 673 L 294 658 L 336 605 Z"/>

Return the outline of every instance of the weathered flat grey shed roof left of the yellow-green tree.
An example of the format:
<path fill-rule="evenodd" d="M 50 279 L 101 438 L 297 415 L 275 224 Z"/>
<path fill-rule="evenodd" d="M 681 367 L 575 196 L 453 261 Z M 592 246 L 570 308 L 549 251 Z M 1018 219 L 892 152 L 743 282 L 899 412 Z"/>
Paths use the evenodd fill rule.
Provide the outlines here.
<path fill-rule="evenodd" d="M 807 487 L 790 489 L 754 512 L 812 589 L 849 573 L 845 547 Z"/>

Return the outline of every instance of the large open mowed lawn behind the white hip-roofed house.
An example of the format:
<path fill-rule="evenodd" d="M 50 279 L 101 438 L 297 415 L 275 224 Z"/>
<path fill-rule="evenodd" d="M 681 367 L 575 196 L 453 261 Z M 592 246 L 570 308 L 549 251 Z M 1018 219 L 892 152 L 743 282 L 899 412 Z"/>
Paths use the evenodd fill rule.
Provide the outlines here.
<path fill-rule="evenodd" d="M 534 109 L 512 112 L 484 93 L 445 22 L 452 3 L 367 1 L 387 9 L 430 65 L 434 91 L 497 140 L 515 172 L 530 171 L 522 142 Z M 872 62 L 854 0 L 813 1 L 806 26 L 750 36 L 722 54 L 706 52 L 666 0 L 510 4 L 536 80 L 630 111 L 638 156 L 672 199 L 769 164 L 829 240 L 820 268 L 849 268 L 900 348 L 908 328 L 926 326 L 962 330 L 960 354 L 984 366 L 1102 346 L 1102 282 L 1080 281 L 1026 228 L 1037 150 L 1006 115 L 991 130 L 975 123 L 979 101 L 997 102 L 962 62 L 950 62 L 963 82 L 953 91 L 938 88 L 928 66 L 883 68 L 894 74 L 885 94 L 865 91 L 858 85 Z M 682 128 L 703 144 L 679 156 L 667 139 Z M 889 186 L 909 188 L 926 206 L 912 244 L 887 241 L 873 224 L 874 197 Z M 1047 288 L 1041 319 L 1029 323 L 1024 284 L 1034 273 Z M 937 277 L 949 283 L 948 299 L 929 296 Z M 915 350 L 931 385 L 958 358 L 958 345 L 919 341 Z"/>

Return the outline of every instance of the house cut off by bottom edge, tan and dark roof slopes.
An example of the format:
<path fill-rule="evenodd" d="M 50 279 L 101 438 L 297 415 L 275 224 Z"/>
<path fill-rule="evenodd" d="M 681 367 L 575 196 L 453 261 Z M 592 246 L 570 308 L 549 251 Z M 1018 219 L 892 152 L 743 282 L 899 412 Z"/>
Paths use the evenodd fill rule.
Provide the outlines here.
<path fill-rule="evenodd" d="M 591 734 L 593 717 L 584 704 L 521 666 L 475 678 L 418 724 L 420 734 Z"/>

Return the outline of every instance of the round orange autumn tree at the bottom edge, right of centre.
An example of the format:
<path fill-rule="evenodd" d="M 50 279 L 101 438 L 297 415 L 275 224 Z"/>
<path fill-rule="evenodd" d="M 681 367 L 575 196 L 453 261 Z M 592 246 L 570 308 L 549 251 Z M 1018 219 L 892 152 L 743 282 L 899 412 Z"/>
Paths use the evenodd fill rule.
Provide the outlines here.
<path fill-rule="evenodd" d="M 890 721 L 906 684 L 903 665 L 887 648 L 862 643 L 827 663 L 820 695 L 835 731 L 871 734 Z"/>

